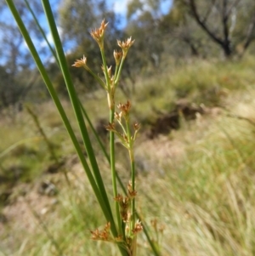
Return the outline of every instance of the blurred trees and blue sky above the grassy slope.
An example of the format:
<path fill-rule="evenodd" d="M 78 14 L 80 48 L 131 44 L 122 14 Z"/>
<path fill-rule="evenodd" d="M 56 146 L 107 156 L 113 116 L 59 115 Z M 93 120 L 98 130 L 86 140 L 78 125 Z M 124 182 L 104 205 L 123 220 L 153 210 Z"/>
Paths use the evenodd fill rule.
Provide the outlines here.
<path fill-rule="evenodd" d="M 38 45 L 55 88 L 65 97 L 63 77 L 47 51 L 46 43 L 42 42 L 42 35 L 28 13 L 26 4 L 18 0 L 14 2 Z M 112 10 L 114 3 L 107 1 L 53 1 L 68 63 L 71 66 L 74 60 L 85 54 L 88 64 L 98 67 L 100 71 L 99 49 L 90 37 L 90 31 L 103 19 L 109 21 L 106 44 L 108 60 L 113 62 L 111 48 L 116 46 L 116 39 L 130 36 L 135 38 L 122 77 L 122 88 L 126 93 L 128 90 L 135 91 L 141 75 L 153 76 L 164 68 L 171 68 L 169 61 L 171 65 L 178 65 L 190 58 L 240 60 L 247 50 L 253 53 L 255 3 L 252 0 L 166 2 L 128 1 L 126 17 L 123 17 Z M 47 34 L 41 4 L 32 0 L 30 3 L 34 13 L 42 20 L 41 26 Z M 164 6 L 168 9 L 164 9 Z M 25 101 L 48 100 L 48 93 L 3 0 L 0 12 L 0 38 L 3 46 L 0 62 L 1 110 L 10 106 L 19 109 Z M 86 72 L 71 68 L 71 74 L 79 92 L 88 93 L 99 88 Z M 127 82 L 131 82 L 132 89 L 125 86 Z"/>

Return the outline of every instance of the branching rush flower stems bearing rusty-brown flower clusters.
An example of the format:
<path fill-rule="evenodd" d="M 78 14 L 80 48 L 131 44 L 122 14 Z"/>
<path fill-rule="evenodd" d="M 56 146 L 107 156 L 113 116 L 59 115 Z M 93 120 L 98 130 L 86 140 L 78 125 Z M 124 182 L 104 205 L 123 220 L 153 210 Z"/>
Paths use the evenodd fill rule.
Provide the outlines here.
<path fill-rule="evenodd" d="M 132 38 L 128 38 L 127 41 L 117 41 L 120 51 L 114 51 L 113 55 L 116 61 L 115 72 L 112 74 L 112 66 L 108 66 L 105 60 L 105 29 L 107 27 L 105 20 L 102 21 L 101 26 L 91 32 L 91 36 L 99 44 L 101 57 L 102 57 L 102 71 L 105 75 L 105 81 L 92 71 L 87 65 L 87 58 L 83 56 L 81 60 L 77 60 L 73 66 L 83 67 L 88 71 L 105 90 L 107 95 L 108 107 L 109 107 L 109 124 L 105 128 L 110 132 L 110 156 L 111 156 L 111 181 L 113 198 L 115 200 L 116 210 L 116 229 L 117 236 L 110 233 L 111 225 L 110 221 L 105 225 L 105 229 L 102 231 L 92 231 L 92 238 L 94 240 L 104 240 L 107 242 L 116 242 L 121 244 L 125 248 L 128 255 L 136 255 L 136 240 L 139 231 L 143 230 L 139 219 L 136 219 L 135 211 L 135 196 L 137 191 L 135 190 L 135 164 L 133 158 L 133 143 L 136 138 L 136 134 L 139 131 L 139 124 L 133 124 L 133 134 L 131 131 L 131 125 L 129 122 L 129 111 L 131 108 L 130 101 L 127 100 L 126 104 L 119 104 L 117 108 L 119 112 L 116 112 L 116 88 L 122 72 L 122 66 L 124 60 L 127 57 L 128 49 L 133 45 Z M 118 122 L 121 132 L 116 129 L 116 122 Z M 115 167 L 115 134 L 122 142 L 122 145 L 127 148 L 130 167 L 131 167 L 131 180 L 127 185 L 127 195 L 121 195 L 117 190 L 116 185 L 116 167 Z M 113 236 L 112 236 L 113 235 Z"/>

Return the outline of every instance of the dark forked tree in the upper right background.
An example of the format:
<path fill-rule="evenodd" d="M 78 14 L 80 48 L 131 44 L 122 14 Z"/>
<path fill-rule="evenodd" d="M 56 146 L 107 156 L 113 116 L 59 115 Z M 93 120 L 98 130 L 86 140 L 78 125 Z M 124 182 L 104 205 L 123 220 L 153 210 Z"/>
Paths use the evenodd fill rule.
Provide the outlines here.
<path fill-rule="evenodd" d="M 243 54 L 255 39 L 255 2 L 251 0 L 175 0 L 184 15 L 229 58 Z M 191 37 L 190 37 L 191 38 Z"/>

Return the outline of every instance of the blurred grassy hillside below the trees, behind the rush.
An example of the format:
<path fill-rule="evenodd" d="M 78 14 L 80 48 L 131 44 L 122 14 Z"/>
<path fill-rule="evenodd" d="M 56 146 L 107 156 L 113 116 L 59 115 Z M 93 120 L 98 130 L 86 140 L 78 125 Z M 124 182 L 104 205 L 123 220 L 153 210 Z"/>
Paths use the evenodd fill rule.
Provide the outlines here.
<path fill-rule="evenodd" d="M 137 204 L 162 255 L 255 254 L 254 65 L 252 57 L 168 63 L 139 77 L 130 95 L 134 118 L 143 123 Z M 180 99 L 203 113 L 187 121 L 180 112 L 178 130 L 148 139 L 153 123 Z M 95 126 L 106 117 L 104 92 L 82 102 Z M 54 105 L 33 111 L 59 165 L 26 110 L 15 120 L 1 118 L 0 255 L 118 255 L 111 243 L 90 239 L 105 219 Z M 98 159 L 111 193 L 110 168 L 100 153 Z M 116 168 L 123 179 L 127 164 L 120 148 Z M 139 255 L 150 255 L 144 235 Z"/>

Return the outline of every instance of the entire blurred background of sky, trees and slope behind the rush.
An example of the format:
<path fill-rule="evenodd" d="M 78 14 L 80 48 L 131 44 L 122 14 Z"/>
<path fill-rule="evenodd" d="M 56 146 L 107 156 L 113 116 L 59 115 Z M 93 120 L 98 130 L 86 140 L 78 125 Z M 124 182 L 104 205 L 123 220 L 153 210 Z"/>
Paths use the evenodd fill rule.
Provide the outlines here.
<path fill-rule="evenodd" d="M 59 67 L 26 3 L 14 3 L 75 126 Z M 41 3 L 30 3 L 48 35 Z M 152 220 L 162 255 L 254 255 L 255 2 L 126 3 L 119 14 L 108 1 L 52 1 L 82 103 L 105 142 L 105 92 L 86 71 L 71 67 L 84 54 L 101 72 L 90 31 L 105 19 L 109 63 L 116 39 L 135 39 L 117 99 L 131 99 L 133 119 L 142 123 L 139 211 L 144 223 Z M 3 0 L 0 42 L 0 255 L 105 255 L 109 247 L 117 255 L 88 239 L 89 230 L 105 223 Z M 125 179 L 127 156 L 119 148 L 117 156 Z M 107 184 L 108 166 L 98 157 Z M 150 255 L 143 236 L 139 246 L 140 255 Z"/>

